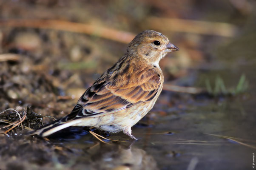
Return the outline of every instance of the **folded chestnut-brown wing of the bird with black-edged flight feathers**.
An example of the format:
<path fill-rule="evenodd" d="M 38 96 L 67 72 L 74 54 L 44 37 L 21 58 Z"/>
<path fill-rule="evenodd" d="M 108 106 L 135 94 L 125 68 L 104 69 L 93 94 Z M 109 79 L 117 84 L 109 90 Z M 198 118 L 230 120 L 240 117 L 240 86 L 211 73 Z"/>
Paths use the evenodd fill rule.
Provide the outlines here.
<path fill-rule="evenodd" d="M 159 74 L 154 69 L 143 71 L 139 77 L 135 74 L 128 80 L 125 82 L 115 78 L 112 81 L 106 81 L 106 79 L 96 81 L 85 91 L 73 111 L 63 117 L 62 121 L 67 122 L 86 116 L 102 116 L 141 102 L 150 102 L 156 96 L 161 84 Z"/>

